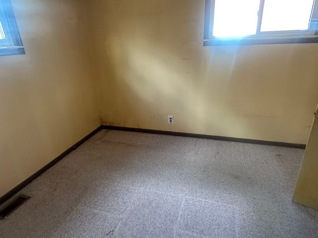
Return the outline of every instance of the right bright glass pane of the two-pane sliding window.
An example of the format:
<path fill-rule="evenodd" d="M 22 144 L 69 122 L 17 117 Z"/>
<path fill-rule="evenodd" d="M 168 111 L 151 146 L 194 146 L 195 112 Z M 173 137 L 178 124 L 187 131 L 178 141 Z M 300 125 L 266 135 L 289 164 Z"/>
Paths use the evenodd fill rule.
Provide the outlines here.
<path fill-rule="evenodd" d="M 261 31 L 307 30 L 314 0 L 265 0 Z"/>

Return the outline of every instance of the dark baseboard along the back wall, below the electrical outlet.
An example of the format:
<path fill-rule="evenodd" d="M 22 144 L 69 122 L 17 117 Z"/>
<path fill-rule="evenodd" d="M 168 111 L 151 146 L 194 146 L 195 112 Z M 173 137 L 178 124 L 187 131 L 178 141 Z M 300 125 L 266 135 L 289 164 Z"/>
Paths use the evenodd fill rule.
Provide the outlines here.
<path fill-rule="evenodd" d="M 293 143 L 266 141 L 266 140 L 242 139 L 242 138 L 226 137 L 226 136 L 218 136 L 218 135 L 204 135 L 204 134 L 174 132 L 174 131 L 165 131 L 165 130 L 140 129 L 140 128 L 132 128 L 132 127 L 113 126 L 113 125 L 101 125 L 101 127 L 103 129 L 110 129 L 110 130 L 124 130 L 124 131 L 134 131 L 134 132 L 161 134 L 161 135 L 176 135 L 176 136 L 184 136 L 184 137 L 224 140 L 224 141 L 242 142 L 242 143 L 250 143 L 250 144 L 274 145 L 274 146 L 298 148 L 298 149 L 306 148 L 306 145 L 304 144 L 293 144 Z"/>

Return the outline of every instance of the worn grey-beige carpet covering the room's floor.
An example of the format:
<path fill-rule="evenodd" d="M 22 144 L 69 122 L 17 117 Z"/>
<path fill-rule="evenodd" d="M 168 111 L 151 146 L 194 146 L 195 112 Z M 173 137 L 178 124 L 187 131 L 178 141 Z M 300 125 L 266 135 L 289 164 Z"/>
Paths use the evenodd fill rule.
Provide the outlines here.
<path fill-rule="evenodd" d="M 102 130 L 20 193 L 1 238 L 317 238 L 304 150 Z"/>

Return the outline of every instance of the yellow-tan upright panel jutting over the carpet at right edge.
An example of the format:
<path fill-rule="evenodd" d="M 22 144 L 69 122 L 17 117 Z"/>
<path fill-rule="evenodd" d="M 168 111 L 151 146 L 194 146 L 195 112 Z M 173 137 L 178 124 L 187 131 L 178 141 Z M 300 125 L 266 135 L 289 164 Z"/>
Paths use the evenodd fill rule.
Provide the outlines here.
<path fill-rule="evenodd" d="M 293 201 L 318 210 L 318 117 L 308 140 Z"/>

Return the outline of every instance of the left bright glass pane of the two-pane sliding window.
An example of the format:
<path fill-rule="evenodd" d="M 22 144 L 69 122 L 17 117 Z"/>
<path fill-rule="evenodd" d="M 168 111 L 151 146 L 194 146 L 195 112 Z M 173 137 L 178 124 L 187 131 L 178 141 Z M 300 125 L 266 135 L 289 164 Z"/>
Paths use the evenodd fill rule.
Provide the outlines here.
<path fill-rule="evenodd" d="M 215 0 L 213 36 L 254 35 L 259 0 Z"/>

